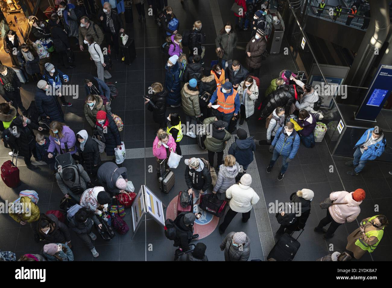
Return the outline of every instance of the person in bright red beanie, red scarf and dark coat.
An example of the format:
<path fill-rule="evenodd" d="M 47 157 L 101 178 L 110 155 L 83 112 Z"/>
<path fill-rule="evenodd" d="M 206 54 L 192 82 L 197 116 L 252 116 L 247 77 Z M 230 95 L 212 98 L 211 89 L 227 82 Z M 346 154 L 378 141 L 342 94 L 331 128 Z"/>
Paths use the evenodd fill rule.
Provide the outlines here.
<path fill-rule="evenodd" d="M 114 156 L 114 148 L 121 147 L 121 136 L 117 124 L 111 115 L 107 116 L 106 112 L 102 110 L 98 111 L 96 118 L 96 130 L 101 141 L 105 142 L 106 155 Z M 105 130 L 104 127 L 106 127 Z"/>

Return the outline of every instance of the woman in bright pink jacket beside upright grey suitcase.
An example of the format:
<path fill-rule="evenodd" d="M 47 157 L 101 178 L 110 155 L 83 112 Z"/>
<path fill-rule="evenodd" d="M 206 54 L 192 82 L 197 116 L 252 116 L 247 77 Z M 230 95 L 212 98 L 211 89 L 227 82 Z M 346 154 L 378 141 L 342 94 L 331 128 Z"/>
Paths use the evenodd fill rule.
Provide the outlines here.
<path fill-rule="evenodd" d="M 167 134 L 163 129 L 159 129 L 154 143 L 152 144 L 152 153 L 154 154 L 157 162 L 156 171 L 158 178 L 161 176 L 161 167 L 162 173 L 166 170 L 167 159 L 170 155 L 169 152 L 175 152 L 176 147 L 177 144 L 174 138 Z"/>

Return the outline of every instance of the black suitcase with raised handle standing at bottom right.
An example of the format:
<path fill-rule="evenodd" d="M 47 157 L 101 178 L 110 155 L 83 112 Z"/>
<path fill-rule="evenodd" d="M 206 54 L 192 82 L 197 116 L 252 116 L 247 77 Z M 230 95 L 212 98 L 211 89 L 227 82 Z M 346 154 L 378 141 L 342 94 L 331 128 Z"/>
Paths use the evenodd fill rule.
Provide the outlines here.
<path fill-rule="evenodd" d="M 301 236 L 302 232 L 303 230 L 299 233 L 298 237 Z M 293 233 L 291 233 L 291 235 Z M 276 261 L 292 261 L 292 259 L 294 259 L 301 244 L 297 241 L 298 237 L 294 239 L 291 235 L 284 233 L 282 237 L 279 238 L 274 248 L 272 248 L 271 252 L 268 254 L 267 260 L 273 258 Z"/>

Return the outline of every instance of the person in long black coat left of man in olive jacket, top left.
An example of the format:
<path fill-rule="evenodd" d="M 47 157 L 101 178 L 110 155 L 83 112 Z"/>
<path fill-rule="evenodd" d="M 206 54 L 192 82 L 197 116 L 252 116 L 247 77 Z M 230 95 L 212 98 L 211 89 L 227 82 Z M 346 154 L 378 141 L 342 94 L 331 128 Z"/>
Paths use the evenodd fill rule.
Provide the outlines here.
<path fill-rule="evenodd" d="M 68 62 L 67 51 L 71 51 L 71 44 L 69 43 L 67 32 L 65 32 L 61 26 L 60 19 L 57 15 L 51 16 L 49 27 L 56 54 L 58 55 L 58 58 L 61 59 L 62 65 L 65 68 L 75 67 L 73 63 Z"/>

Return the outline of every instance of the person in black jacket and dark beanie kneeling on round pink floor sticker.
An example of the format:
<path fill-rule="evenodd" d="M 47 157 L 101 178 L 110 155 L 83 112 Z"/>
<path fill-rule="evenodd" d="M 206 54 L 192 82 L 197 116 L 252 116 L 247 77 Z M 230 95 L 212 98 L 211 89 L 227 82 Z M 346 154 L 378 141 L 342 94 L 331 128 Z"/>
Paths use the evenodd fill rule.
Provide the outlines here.
<path fill-rule="evenodd" d="M 174 219 L 176 227 L 176 239 L 174 239 L 174 247 L 180 247 L 180 251 L 188 251 L 189 243 L 198 239 L 199 234 L 193 234 L 193 222 L 196 215 L 192 212 L 182 212 Z"/>

